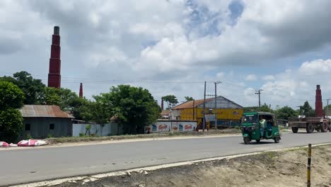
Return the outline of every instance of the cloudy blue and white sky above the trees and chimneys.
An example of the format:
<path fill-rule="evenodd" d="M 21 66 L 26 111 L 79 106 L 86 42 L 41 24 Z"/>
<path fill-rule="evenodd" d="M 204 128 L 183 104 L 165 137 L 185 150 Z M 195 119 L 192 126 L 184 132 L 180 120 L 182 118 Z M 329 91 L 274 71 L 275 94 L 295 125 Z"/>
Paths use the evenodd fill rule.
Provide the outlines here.
<path fill-rule="evenodd" d="M 331 98 L 331 1 L 0 1 L 0 76 L 47 84 L 60 27 L 62 87 L 86 98 L 130 84 L 161 97 L 217 94 L 241 106 Z M 331 102 L 331 101 L 330 101 Z"/>

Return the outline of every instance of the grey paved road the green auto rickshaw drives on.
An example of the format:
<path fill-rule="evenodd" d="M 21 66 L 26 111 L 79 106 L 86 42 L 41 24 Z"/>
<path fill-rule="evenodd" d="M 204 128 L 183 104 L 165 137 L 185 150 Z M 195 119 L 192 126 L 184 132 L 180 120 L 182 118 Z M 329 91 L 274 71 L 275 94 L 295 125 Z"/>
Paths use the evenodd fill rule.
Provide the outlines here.
<path fill-rule="evenodd" d="M 233 136 L 7 149 L 0 150 L 0 186 L 325 142 L 331 142 L 331 132 L 284 133 L 279 144 L 244 145 Z"/>

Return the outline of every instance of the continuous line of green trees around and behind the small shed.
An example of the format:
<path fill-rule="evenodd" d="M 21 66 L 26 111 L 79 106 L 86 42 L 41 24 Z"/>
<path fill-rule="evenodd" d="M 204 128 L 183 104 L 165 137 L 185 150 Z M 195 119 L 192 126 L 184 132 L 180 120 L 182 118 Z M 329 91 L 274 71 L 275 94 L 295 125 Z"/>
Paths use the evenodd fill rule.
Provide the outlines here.
<path fill-rule="evenodd" d="M 147 89 L 129 85 L 112 86 L 108 93 L 79 98 L 70 89 L 47 87 L 28 72 L 13 77 L 0 77 L 0 140 L 12 142 L 23 130 L 23 118 L 18 111 L 23 105 L 56 105 L 69 111 L 77 120 L 100 125 L 113 118 L 124 134 L 144 133 L 161 113 L 158 103 Z"/>

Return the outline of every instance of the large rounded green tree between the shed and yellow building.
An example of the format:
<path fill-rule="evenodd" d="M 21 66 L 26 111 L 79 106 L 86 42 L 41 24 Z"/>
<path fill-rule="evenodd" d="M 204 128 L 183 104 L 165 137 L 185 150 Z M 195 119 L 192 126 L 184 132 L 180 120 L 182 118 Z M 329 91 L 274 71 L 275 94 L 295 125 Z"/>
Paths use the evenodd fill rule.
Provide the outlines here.
<path fill-rule="evenodd" d="M 161 108 L 148 90 L 129 85 L 112 86 L 109 93 L 95 96 L 108 119 L 115 116 L 124 133 L 144 133 L 144 126 L 155 123 Z M 110 115 L 107 115 L 110 112 Z"/>

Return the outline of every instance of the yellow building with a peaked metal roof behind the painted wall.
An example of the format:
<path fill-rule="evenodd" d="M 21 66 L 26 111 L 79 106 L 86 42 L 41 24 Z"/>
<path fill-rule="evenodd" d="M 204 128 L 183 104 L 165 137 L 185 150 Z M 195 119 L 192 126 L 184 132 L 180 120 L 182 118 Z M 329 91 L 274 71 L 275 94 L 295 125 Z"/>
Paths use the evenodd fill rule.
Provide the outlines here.
<path fill-rule="evenodd" d="M 206 121 L 211 126 L 215 124 L 215 98 L 206 98 Z M 224 98 L 216 97 L 217 126 L 236 126 L 243 116 L 243 106 Z M 172 120 L 196 120 L 202 124 L 204 118 L 204 100 L 187 101 L 171 108 L 170 119 Z"/>

